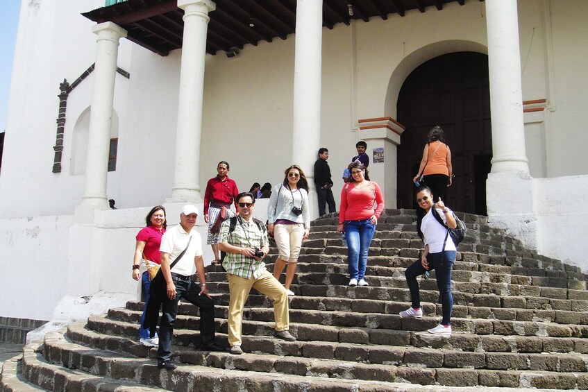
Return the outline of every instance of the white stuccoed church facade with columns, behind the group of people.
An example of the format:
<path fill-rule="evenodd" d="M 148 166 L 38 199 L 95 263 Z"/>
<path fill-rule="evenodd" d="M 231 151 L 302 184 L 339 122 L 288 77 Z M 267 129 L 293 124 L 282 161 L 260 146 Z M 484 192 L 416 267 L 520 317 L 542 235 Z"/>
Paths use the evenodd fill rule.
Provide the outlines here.
<path fill-rule="evenodd" d="M 183 49 L 165 57 L 81 16 L 103 6 L 22 1 L 0 172 L 0 316 L 67 322 L 135 298 L 144 216 L 163 203 L 174 225 L 183 204 L 201 209 L 220 160 L 242 191 L 280 182 L 292 163 L 312 183 L 326 146 L 339 205 L 339 168 L 364 139 L 383 149 L 371 178 L 395 208 L 398 91 L 423 62 L 460 51 L 489 61 L 489 223 L 588 271 L 587 1 L 467 0 L 329 30 L 321 1 L 299 0 L 296 34 L 236 58 L 205 54 L 213 1 L 178 0 Z M 60 83 L 93 63 L 60 116 Z M 205 239 L 202 216 L 198 230 Z"/>

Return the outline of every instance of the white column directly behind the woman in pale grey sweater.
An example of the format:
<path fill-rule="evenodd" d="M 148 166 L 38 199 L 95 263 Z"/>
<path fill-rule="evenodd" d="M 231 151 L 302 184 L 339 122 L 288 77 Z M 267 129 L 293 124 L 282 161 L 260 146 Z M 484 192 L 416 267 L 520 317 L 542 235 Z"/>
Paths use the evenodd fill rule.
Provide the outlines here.
<path fill-rule="evenodd" d="M 292 163 L 299 164 L 308 178 L 311 212 L 316 207 L 317 197 L 314 189 L 314 161 L 317 160 L 317 152 L 321 147 L 322 28 L 323 2 L 298 0 Z"/>

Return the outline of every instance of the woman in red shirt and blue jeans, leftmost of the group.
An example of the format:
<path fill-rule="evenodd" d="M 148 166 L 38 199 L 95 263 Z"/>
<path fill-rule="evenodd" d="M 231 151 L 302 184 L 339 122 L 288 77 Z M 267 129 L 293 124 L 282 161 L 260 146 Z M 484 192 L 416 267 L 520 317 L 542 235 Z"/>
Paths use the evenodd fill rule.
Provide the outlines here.
<path fill-rule="evenodd" d="M 149 214 L 145 217 L 145 227 L 139 230 L 135 239 L 135 255 L 133 257 L 133 279 L 141 280 L 140 287 L 145 296 L 145 306 L 141 314 L 141 326 L 139 327 L 139 341 L 143 346 L 157 347 L 159 339 L 156 333 L 153 337 L 150 335 L 150 329 L 143 327 L 145 320 L 145 310 L 149 302 L 149 287 L 151 287 L 151 278 L 149 278 L 149 269 L 158 269 L 160 266 L 159 246 L 161 237 L 167 228 L 165 220 L 165 207 L 156 205 L 151 208 Z M 144 263 L 142 261 L 145 261 Z"/>

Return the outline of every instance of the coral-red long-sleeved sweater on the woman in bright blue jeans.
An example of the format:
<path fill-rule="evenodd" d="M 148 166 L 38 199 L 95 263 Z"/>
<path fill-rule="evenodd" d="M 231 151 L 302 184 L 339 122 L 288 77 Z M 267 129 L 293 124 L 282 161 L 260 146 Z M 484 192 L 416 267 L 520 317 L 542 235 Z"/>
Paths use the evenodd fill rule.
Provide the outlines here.
<path fill-rule="evenodd" d="M 378 206 L 373 209 L 373 202 Z M 346 184 L 341 191 L 341 207 L 339 208 L 339 223 L 344 221 L 361 221 L 369 219 L 372 215 L 380 217 L 384 210 L 384 198 L 382 191 L 376 182 L 362 189 L 355 187 L 355 182 Z"/>

